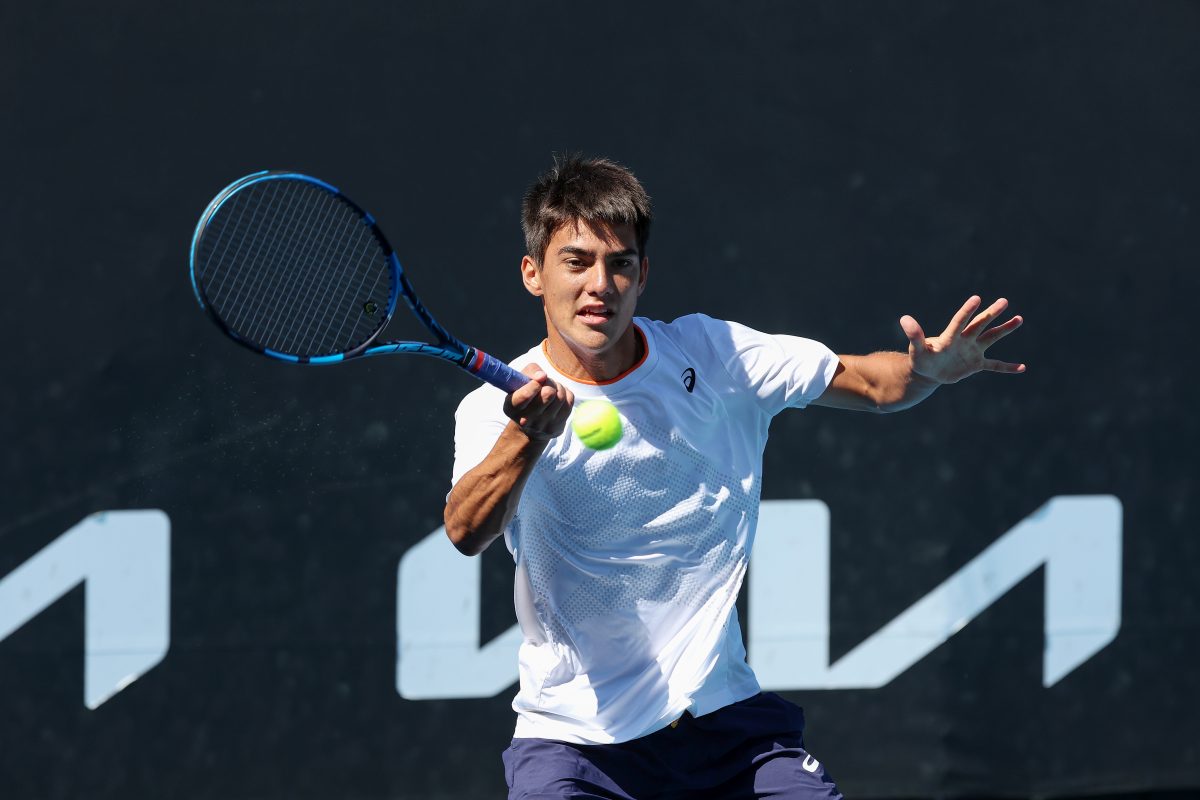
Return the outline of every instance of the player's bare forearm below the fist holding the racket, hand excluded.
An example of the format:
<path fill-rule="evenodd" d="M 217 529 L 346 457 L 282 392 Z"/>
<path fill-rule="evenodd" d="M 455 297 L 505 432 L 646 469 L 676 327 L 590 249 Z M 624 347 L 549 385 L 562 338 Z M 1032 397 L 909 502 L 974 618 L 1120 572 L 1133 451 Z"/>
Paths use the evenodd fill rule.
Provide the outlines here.
<path fill-rule="evenodd" d="M 504 533 L 546 441 L 510 422 L 487 458 L 458 480 L 444 518 L 446 536 L 461 553 L 478 555 Z"/>

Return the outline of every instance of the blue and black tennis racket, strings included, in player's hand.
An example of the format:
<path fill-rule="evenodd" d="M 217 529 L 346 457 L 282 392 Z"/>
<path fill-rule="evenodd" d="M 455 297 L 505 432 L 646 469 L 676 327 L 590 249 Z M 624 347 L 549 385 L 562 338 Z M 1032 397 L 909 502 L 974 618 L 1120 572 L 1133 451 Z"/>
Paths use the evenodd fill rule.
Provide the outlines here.
<path fill-rule="evenodd" d="M 433 319 L 374 218 L 329 184 L 289 172 L 239 179 L 192 236 L 192 290 L 234 342 L 294 363 L 416 354 L 512 392 L 529 383 Z M 436 342 L 379 342 L 403 297 Z"/>

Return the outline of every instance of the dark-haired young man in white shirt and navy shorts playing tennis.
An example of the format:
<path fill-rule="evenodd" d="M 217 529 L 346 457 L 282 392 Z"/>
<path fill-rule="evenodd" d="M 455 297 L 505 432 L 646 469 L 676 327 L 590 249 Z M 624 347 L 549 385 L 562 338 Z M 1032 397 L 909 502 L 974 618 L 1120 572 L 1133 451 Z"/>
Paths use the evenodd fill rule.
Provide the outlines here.
<path fill-rule="evenodd" d="M 502 534 L 524 633 L 509 798 L 838 798 L 804 751 L 799 708 L 760 692 L 734 600 L 757 521 L 770 419 L 809 403 L 893 411 L 976 372 L 1020 317 L 971 297 L 908 353 L 834 355 L 695 314 L 635 318 L 650 204 L 608 161 L 570 158 L 522 210 L 526 289 L 546 339 L 504 396 L 458 407 L 446 534 L 468 555 Z M 624 435 L 588 450 L 566 425 L 606 398 Z"/>

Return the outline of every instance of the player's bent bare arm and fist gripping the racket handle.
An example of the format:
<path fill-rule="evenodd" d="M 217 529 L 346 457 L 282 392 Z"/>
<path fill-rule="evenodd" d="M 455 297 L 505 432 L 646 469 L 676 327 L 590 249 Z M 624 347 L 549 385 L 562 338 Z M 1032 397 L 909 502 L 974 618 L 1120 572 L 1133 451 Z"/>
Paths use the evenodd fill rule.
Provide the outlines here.
<path fill-rule="evenodd" d="M 575 396 L 536 365 L 529 383 L 504 399 L 509 423 L 482 462 L 463 475 L 446 500 L 446 536 L 464 555 L 478 555 L 504 533 L 546 444 L 566 427 Z"/>

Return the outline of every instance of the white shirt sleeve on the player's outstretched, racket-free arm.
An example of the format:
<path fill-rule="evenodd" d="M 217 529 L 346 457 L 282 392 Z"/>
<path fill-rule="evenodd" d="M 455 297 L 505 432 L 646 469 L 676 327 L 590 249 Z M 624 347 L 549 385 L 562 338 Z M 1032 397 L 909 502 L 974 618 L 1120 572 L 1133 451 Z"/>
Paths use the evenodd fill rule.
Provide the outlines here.
<path fill-rule="evenodd" d="M 703 324 L 734 385 L 752 392 L 758 407 L 772 416 L 785 408 L 804 408 L 820 397 L 838 369 L 838 356 L 821 342 L 762 333 L 708 317 Z"/>

